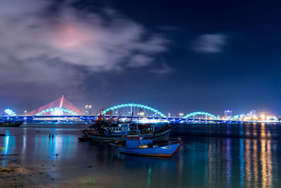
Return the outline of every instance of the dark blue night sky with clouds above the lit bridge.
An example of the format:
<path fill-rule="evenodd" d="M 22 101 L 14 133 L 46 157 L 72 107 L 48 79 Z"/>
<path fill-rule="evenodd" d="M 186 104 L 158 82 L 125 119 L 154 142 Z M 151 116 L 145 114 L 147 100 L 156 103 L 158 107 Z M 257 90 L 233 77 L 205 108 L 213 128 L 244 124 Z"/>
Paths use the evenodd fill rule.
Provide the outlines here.
<path fill-rule="evenodd" d="M 281 111 L 281 3 L 0 3 L 0 111 L 65 97 L 94 111 Z"/>

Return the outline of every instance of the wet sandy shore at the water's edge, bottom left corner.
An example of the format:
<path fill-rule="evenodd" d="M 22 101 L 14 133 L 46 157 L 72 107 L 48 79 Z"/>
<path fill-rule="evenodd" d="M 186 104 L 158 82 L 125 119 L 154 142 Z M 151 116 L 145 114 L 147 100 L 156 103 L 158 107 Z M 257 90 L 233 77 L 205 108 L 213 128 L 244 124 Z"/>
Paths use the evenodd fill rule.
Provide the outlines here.
<path fill-rule="evenodd" d="M 55 165 L 30 165 L 25 168 L 17 161 L 18 155 L 0 158 L 0 187 L 92 187 L 96 185 L 93 177 L 77 177 L 70 181 L 56 182 L 51 171 Z M 92 168 L 91 165 L 86 168 Z M 74 183 L 75 182 L 75 183 Z M 95 186 L 96 187 L 96 186 Z M 98 186 L 99 187 L 99 186 Z"/>

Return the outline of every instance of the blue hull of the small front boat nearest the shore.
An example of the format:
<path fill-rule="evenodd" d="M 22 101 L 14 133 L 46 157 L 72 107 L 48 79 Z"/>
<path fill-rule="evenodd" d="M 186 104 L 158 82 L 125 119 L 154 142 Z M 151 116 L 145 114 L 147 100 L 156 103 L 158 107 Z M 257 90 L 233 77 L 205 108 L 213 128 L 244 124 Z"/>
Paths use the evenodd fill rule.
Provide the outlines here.
<path fill-rule="evenodd" d="M 159 156 L 159 157 L 171 157 L 183 143 L 179 142 L 177 144 L 170 144 L 166 146 L 157 146 L 150 148 L 129 148 L 129 147 L 119 147 L 118 151 L 120 153 L 126 153 L 138 156 Z"/>

